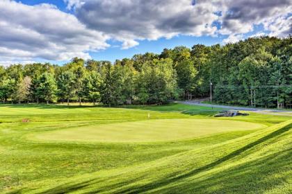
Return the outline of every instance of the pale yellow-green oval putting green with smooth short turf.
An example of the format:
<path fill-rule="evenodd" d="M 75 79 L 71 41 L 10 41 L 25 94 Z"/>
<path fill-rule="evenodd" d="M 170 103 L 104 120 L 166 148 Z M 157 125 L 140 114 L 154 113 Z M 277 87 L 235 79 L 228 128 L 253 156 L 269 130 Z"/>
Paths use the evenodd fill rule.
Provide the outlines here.
<path fill-rule="evenodd" d="M 266 125 L 220 119 L 158 119 L 89 125 L 33 134 L 49 141 L 145 142 L 172 141 L 220 132 L 255 130 Z"/>

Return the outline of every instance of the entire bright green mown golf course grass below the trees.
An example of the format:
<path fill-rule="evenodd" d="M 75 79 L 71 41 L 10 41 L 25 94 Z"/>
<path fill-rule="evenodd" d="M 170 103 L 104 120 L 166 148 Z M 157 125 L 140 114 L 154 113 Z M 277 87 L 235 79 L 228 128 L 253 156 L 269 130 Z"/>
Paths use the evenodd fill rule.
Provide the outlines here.
<path fill-rule="evenodd" d="M 0 105 L 0 193 L 291 193 L 291 117 L 219 110 Z"/>

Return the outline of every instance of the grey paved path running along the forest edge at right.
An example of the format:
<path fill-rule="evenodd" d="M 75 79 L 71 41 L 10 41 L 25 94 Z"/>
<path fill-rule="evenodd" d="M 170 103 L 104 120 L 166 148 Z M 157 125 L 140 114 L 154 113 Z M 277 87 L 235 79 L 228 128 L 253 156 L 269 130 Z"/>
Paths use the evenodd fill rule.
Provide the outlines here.
<path fill-rule="evenodd" d="M 177 103 L 182 103 L 186 105 L 196 105 L 196 106 L 202 106 L 202 107 L 214 107 L 214 108 L 222 108 L 222 109 L 236 109 L 236 110 L 243 110 L 243 111 L 252 111 L 252 112 L 257 112 L 261 114 L 292 116 L 292 111 L 288 111 L 288 110 L 235 107 L 235 106 L 227 106 L 227 105 L 210 105 L 210 104 L 201 103 L 201 100 L 178 101 Z"/>

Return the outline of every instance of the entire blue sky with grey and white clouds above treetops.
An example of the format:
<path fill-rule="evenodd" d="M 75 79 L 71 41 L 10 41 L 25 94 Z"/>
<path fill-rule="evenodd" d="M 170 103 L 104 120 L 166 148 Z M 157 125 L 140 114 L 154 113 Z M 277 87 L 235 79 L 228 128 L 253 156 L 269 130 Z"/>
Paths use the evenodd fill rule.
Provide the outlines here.
<path fill-rule="evenodd" d="M 0 65 L 292 34 L 292 0 L 0 0 Z"/>

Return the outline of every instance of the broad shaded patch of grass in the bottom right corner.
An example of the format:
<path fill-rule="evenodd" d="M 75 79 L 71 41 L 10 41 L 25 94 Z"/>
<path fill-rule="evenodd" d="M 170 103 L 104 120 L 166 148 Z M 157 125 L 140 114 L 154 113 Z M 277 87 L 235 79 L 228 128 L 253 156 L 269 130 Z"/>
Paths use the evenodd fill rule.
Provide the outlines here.
<path fill-rule="evenodd" d="M 287 181 L 283 172 L 291 170 L 292 150 L 260 157 L 211 176 L 184 179 L 179 184 L 159 188 L 157 193 L 266 193 Z M 274 191 L 273 193 L 285 193 Z"/>

